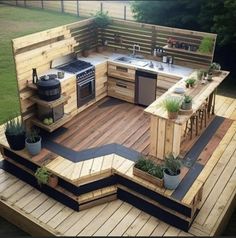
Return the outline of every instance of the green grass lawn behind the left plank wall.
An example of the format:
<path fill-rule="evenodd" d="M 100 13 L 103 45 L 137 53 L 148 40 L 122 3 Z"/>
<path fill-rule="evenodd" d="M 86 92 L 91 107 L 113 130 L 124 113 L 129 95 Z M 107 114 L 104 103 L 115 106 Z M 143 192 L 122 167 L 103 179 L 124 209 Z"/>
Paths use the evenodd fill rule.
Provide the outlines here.
<path fill-rule="evenodd" d="M 19 113 L 11 39 L 80 19 L 69 14 L 0 4 L 0 124 Z"/>

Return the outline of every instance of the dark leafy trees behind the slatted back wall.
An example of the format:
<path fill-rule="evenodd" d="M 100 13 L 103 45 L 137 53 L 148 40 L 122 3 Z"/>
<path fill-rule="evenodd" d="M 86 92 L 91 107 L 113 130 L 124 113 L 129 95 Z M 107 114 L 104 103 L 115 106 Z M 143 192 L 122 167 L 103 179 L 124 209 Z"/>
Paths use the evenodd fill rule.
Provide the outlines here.
<path fill-rule="evenodd" d="M 218 34 L 220 46 L 236 43 L 235 0 L 135 1 L 138 21 Z"/>

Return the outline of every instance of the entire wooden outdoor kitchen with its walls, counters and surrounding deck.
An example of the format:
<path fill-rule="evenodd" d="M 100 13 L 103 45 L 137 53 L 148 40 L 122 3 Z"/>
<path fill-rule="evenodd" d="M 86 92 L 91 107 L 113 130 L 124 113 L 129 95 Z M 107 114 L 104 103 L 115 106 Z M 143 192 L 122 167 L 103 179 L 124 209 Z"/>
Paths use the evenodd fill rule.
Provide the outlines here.
<path fill-rule="evenodd" d="M 38 235 L 220 234 L 235 205 L 236 99 L 217 95 L 230 72 L 213 63 L 216 34 L 110 21 L 12 40 L 20 116 L 0 126 L 5 218 Z"/>

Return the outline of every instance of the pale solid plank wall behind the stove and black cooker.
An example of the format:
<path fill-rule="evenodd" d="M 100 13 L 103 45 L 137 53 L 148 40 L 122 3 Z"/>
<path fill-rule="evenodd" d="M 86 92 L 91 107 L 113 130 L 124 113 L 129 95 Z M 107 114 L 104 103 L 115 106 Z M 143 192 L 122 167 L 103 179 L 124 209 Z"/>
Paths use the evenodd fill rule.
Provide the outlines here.
<path fill-rule="evenodd" d="M 27 82 L 32 80 L 32 68 L 36 68 L 39 75 L 43 74 L 50 69 L 52 60 L 73 53 L 79 43 L 71 34 L 71 30 L 75 27 L 84 28 L 92 22 L 92 19 L 88 19 L 12 40 L 21 113 L 24 120 L 33 116 L 35 111 L 34 102 L 29 100 L 34 91 L 27 87 Z M 84 34 L 81 32 L 81 37 Z"/>

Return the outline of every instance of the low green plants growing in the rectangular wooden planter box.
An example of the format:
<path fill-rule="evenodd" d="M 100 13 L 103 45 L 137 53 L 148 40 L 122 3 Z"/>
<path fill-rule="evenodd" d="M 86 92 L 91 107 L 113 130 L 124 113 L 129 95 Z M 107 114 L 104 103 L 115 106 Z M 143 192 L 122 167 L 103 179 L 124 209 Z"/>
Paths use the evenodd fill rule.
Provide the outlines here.
<path fill-rule="evenodd" d="M 154 177 L 157 177 L 159 179 L 163 178 L 163 170 L 162 166 L 159 164 L 154 163 L 150 159 L 145 159 L 141 157 L 135 164 L 135 167 L 137 169 L 140 169 L 144 172 L 147 172 L 148 174 L 151 174 Z"/>

